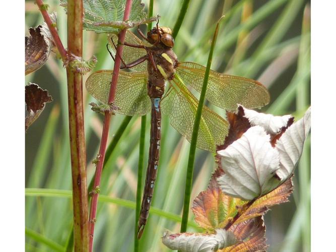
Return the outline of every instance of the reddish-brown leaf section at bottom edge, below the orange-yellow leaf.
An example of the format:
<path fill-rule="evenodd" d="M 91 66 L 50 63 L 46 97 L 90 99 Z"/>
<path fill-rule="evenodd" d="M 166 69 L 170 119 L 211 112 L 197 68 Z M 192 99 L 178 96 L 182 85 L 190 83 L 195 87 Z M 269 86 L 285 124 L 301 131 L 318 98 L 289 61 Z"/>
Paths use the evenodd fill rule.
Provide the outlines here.
<path fill-rule="evenodd" d="M 232 231 L 241 242 L 218 251 L 266 251 L 268 247 L 265 238 L 265 226 L 261 216 L 235 224 L 231 226 L 229 231 Z"/>

